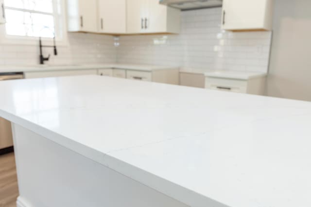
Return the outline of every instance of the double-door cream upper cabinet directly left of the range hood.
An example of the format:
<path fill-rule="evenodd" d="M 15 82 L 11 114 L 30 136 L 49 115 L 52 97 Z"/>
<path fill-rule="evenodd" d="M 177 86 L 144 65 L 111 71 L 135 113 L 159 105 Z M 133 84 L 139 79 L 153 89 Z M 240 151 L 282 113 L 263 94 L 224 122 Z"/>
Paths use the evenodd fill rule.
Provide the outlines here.
<path fill-rule="evenodd" d="M 127 33 L 179 33 L 180 10 L 157 0 L 127 0 Z"/>

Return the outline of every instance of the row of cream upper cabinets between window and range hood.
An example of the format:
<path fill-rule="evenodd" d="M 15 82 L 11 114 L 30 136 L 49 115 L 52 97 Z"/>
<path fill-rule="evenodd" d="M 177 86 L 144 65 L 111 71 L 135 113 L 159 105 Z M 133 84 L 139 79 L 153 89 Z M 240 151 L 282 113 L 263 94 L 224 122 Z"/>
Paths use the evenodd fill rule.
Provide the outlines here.
<path fill-rule="evenodd" d="M 69 32 L 180 32 L 181 11 L 159 4 L 159 0 L 67 0 L 67 10 Z"/>

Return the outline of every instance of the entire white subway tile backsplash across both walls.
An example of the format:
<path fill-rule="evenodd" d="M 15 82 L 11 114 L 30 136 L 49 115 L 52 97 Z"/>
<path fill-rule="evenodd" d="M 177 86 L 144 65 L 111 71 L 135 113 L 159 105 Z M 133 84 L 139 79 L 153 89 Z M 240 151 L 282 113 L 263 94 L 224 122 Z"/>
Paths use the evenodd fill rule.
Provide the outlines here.
<path fill-rule="evenodd" d="M 95 35 L 69 33 L 68 45 L 51 53 L 49 64 L 132 63 L 183 68 L 266 72 L 271 32 L 225 32 L 221 8 L 182 12 L 179 35 Z M 116 47 L 118 46 L 118 47 Z M 0 45 L 0 65 L 38 64 L 37 45 Z"/>

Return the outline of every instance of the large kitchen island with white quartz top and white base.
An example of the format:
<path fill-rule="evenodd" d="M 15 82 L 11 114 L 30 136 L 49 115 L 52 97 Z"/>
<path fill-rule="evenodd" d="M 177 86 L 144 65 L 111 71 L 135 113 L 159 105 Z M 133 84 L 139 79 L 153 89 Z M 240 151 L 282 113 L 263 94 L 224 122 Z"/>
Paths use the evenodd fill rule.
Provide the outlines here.
<path fill-rule="evenodd" d="M 311 103 L 76 76 L 0 82 L 18 207 L 310 207 Z"/>

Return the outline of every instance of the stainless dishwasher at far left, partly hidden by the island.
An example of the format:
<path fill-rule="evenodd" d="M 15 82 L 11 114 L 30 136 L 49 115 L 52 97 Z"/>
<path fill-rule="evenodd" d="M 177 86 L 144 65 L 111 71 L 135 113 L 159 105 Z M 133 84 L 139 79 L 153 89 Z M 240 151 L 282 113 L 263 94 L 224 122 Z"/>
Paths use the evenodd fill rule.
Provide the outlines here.
<path fill-rule="evenodd" d="M 22 79 L 22 72 L 0 72 L 0 81 Z M 13 152 L 11 122 L 0 117 L 0 155 Z"/>

